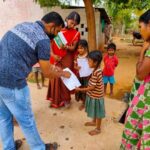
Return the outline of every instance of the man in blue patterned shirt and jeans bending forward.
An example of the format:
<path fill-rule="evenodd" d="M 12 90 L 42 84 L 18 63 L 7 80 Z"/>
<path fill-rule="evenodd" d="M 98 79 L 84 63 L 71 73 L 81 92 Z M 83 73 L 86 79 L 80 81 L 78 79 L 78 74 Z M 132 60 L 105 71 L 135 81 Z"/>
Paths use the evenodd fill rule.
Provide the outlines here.
<path fill-rule="evenodd" d="M 13 116 L 19 123 L 30 149 L 54 149 L 52 144 L 43 143 L 37 131 L 26 78 L 37 62 L 45 77 L 67 77 L 67 72 L 49 63 L 49 37 L 57 35 L 63 26 L 61 16 L 50 12 L 41 21 L 15 26 L 1 39 L 0 138 L 4 150 L 17 149 L 13 137 Z"/>

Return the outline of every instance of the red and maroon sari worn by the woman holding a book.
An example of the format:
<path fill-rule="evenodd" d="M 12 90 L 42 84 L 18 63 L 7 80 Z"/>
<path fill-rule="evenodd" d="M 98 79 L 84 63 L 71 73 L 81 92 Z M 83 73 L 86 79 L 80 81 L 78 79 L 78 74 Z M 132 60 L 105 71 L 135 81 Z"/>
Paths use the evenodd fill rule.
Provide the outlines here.
<path fill-rule="evenodd" d="M 67 45 L 72 45 L 73 42 L 78 42 L 80 40 L 80 33 L 75 29 L 65 28 L 61 32 L 67 40 Z M 73 63 L 76 50 L 67 51 L 64 49 L 60 49 L 55 41 L 53 41 L 52 50 L 53 53 L 57 56 L 60 56 L 61 59 L 57 62 L 53 57 L 50 57 L 50 63 L 55 64 L 62 69 L 69 68 L 73 71 Z M 58 108 L 70 103 L 71 92 L 64 85 L 61 78 L 55 78 L 49 81 L 47 100 L 51 101 L 51 107 L 54 108 Z"/>

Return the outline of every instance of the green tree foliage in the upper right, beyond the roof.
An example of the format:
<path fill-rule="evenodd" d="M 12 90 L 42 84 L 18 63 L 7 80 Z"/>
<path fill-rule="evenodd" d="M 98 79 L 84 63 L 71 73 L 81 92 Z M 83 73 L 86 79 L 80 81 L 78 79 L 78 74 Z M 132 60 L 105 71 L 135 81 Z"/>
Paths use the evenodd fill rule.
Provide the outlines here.
<path fill-rule="evenodd" d="M 112 18 L 115 28 L 137 28 L 139 16 L 150 8 L 150 0 L 104 0 L 103 6 Z"/>

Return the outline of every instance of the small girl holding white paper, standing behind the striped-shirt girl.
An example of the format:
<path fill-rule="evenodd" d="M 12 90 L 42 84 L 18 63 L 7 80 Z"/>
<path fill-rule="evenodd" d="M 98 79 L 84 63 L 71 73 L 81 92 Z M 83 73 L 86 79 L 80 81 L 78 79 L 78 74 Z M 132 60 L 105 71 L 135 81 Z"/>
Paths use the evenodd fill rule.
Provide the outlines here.
<path fill-rule="evenodd" d="M 81 67 L 77 63 L 78 59 L 87 59 L 87 55 L 88 55 L 89 50 L 88 50 L 88 43 L 86 40 L 80 40 L 79 41 L 77 51 L 78 51 L 78 55 L 77 55 L 77 57 L 75 57 L 75 60 L 74 60 L 74 69 L 76 70 L 76 74 L 77 74 L 79 81 L 81 83 L 81 87 L 86 87 L 89 77 L 88 76 L 80 77 L 79 70 L 81 69 Z M 85 92 L 78 91 L 75 93 L 75 99 L 77 101 L 82 101 L 82 104 L 79 107 L 79 110 L 83 110 L 85 108 L 85 98 L 86 98 Z"/>

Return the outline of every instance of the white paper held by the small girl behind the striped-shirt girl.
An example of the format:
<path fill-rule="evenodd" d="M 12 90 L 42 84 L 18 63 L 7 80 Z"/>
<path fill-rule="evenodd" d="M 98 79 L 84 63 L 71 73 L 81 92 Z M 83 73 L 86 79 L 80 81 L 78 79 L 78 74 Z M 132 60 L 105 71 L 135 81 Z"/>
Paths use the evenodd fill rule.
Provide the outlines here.
<path fill-rule="evenodd" d="M 78 66 L 81 67 L 79 70 L 80 77 L 87 77 L 91 75 L 93 69 L 89 67 L 87 58 L 77 58 Z"/>

